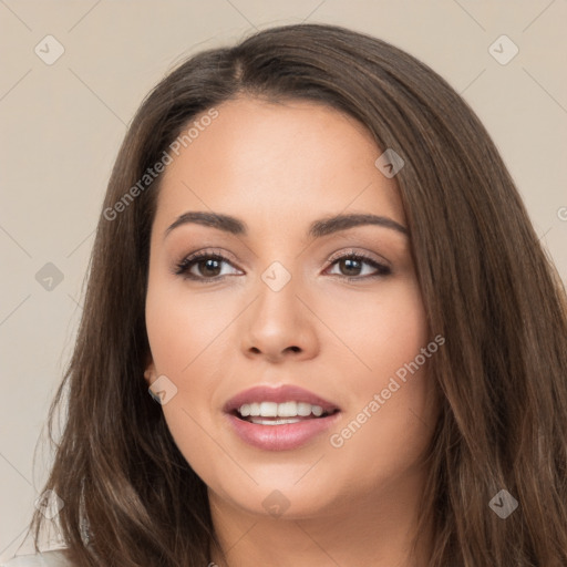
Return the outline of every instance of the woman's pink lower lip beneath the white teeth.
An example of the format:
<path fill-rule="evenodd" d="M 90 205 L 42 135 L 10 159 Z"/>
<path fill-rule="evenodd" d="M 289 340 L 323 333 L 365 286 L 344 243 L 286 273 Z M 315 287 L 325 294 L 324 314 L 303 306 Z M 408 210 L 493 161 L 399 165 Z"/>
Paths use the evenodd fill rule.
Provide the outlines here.
<path fill-rule="evenodd" d="M 282 425 L 260 425 L 225 414 L 233 431 L 249 445 L 264 451 L 290 451 L 298 449 L 327 431 L 339 417 L 336 412 L 327 417 L 313 417 Z"/>

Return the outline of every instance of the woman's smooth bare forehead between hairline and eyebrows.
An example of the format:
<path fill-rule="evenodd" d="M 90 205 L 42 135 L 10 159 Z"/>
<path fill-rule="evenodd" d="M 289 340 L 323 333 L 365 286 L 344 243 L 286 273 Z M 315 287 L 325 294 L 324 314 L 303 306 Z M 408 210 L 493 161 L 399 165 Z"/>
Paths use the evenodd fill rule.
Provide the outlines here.
<path fill-rule="evenodd" d="M 207 209 L 251 219 L 250 226 L 348 212 L 404 223 L 394 179 L 374 166 L 382 152 L 353 117 L 308 101 L 248 97 L 215 111 L 210 121 L 189 121 L 184 132 L 194 126 L 192 136 L 171 154 L 157 224 Z"/>

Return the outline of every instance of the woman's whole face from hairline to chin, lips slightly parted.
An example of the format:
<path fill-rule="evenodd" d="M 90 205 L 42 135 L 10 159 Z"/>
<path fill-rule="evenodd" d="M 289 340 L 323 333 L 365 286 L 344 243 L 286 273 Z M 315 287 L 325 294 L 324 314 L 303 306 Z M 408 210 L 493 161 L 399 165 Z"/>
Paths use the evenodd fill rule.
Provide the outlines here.
<path fill-rule="evenodd" d="M 216 110 L 162 179 L 146 380 L 212 502 L 299 518 L 378 501 L 420 470 L 440 348 L 395 177 L 323 105 Z"/>

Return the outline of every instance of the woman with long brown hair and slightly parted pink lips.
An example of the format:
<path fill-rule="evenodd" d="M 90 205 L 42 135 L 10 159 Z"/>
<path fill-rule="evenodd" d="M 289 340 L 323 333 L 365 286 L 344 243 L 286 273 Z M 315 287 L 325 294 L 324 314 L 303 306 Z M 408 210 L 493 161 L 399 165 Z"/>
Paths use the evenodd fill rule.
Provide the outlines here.
<path fill-rule="evenodd" d="M 565 566 L 566 377 L 565 289 L 463 100 L 360 33 L 259 32 L 120 151 L 50 557 Z"/>

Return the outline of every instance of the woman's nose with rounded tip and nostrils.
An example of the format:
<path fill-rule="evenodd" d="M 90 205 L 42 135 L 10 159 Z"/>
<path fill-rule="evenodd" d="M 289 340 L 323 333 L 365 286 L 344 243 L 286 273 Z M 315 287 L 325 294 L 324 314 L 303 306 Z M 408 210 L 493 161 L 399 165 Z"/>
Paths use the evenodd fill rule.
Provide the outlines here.
<path fill-rule="evenodd" d="M 317 317 L 303 298 L 306 293 L 299 297 L 295 278 L 278 291 L 260 281 L 257 291 L 256 299 L 243 313 L 239 329 L 245 355 L 272 363 L 317 355 Z"/>

